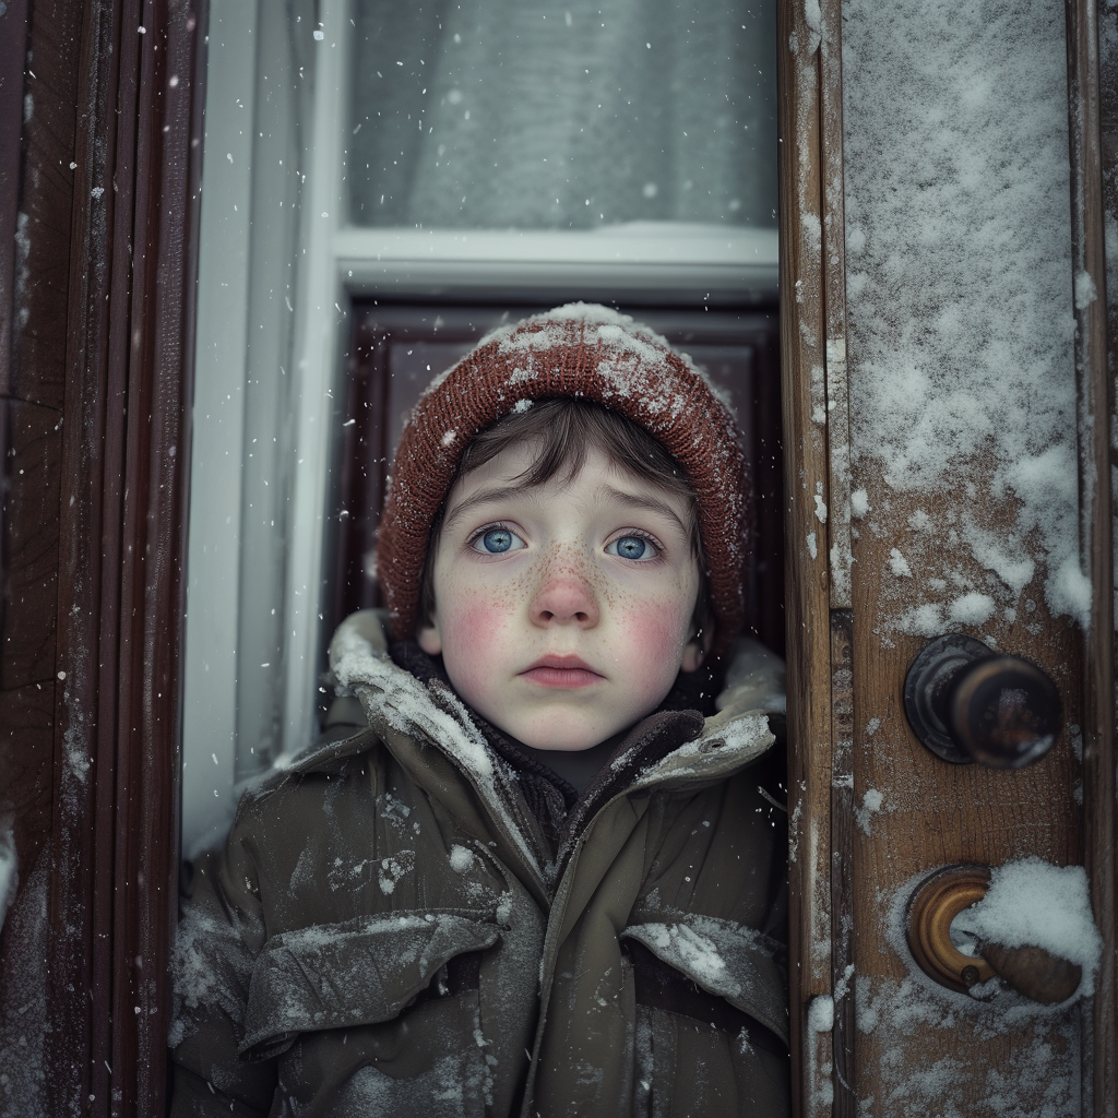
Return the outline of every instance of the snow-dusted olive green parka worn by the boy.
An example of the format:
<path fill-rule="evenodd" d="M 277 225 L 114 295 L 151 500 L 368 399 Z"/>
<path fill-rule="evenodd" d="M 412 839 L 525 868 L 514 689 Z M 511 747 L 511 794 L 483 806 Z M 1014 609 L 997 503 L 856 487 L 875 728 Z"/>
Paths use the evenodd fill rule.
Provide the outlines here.
<path fill-rule="evenodd" d="M 787 1115 L 781 680 L 737 652 L 720 712 L 635 727 L 556 844 L 453 692 L 350 618 L 368 724 L 335 716 L 196 864 L 172 1114 Z"/>

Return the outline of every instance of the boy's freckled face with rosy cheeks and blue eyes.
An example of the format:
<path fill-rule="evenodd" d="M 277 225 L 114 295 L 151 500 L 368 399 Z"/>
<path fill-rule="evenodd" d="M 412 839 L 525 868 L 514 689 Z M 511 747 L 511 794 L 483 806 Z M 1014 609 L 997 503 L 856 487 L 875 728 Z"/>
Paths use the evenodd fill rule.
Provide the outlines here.
<path fill-rule="evenodd" d="M 688 506 L 596 447 L 570 483 L 518 489 L 533 461 L 517 444 L 451 490 L 419 645 L 505 733 L 588 749 L 701 663 Z"/>

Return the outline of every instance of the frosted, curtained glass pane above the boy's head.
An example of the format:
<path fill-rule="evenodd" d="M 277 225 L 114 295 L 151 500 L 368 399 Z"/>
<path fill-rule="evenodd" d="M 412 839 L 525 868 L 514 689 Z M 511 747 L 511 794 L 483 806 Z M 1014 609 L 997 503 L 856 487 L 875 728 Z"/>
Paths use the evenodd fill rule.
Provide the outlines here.
<path fill-rule="evenodd" d="M 776 225 L 773 0 L 356 0 L 350 218 Z"/>

